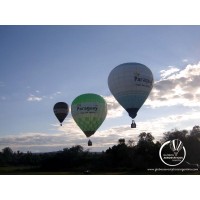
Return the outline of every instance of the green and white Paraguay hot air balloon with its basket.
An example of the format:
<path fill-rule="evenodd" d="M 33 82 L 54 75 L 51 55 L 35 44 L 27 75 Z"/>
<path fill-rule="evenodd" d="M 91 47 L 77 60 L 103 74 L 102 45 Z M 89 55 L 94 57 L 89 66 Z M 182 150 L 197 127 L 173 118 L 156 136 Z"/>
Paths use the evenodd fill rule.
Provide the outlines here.
<path fill-rule="evenodd" d="M 82 94 L 73 100 L 71 113 L 74 121 L 86 137 L 90 137 L 106 118 L 107 104 L 103 97 L 97 94 Z M 88 146 L 92 146 L 90 140 Z"/>

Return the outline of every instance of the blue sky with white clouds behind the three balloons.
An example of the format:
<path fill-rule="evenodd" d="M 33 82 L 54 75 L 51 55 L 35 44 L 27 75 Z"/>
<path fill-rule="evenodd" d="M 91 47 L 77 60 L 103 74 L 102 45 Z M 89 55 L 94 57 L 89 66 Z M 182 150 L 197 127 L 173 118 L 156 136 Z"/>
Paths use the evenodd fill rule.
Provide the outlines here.
<path fill-rule="evenodd" d="M 0 149 L 48 152 L 81 145 L 102 151 L 118 139 L 155 141 L 172 129 L 191 130 L 200 119 L 200 26 L 0 25 Z M 136 129 L 109 91 L 110 71 L 125 62 L 151 69 L 154 87 L 139 110 Z M 88 138 L 71 117 L 63 126 L 56 102 L 84 93 L 105 98 L 108 114 Z"/>

